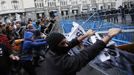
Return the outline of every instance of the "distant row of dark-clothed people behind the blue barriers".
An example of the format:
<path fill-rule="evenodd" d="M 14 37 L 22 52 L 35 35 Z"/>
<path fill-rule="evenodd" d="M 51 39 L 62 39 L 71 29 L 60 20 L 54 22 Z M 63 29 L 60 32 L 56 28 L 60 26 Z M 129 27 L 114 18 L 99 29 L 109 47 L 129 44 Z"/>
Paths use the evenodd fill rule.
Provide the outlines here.
<path fill-rule="evenodd" d="M 96 14 L 92 16 L 94 13 Z M 127 21 L 130 21 L 133 24 L 134 23 L 134 4 L 131 4 L 130 7 L 128 7 L 127 5 L 124 5 L 124 6 L 120 6 L 118 9 L 109 8 L 109 9 L 91 11 L 87 14 L 83 14 L 83 13 L 80 15 L 77 14 L 75 15 L 75 19 L 79 19 L 80 16 L 84 19 L 87 19 L 89 18 L 89 16 L 92 16 L 93 20 L 97 20 L 99 18 L 99 20 L 105 20 L 107 22 L 113 22 L 113 23 L 125 24 L 127 23 Z M 128 16 L 130 16 L 129 19 L 128 19 Z"/>

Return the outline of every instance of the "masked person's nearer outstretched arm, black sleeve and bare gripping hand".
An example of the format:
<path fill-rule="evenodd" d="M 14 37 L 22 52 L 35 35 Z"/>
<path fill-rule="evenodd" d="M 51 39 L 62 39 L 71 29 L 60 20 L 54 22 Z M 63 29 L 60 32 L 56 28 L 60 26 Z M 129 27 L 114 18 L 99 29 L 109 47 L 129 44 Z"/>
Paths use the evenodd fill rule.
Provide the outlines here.
<path fill-rule="evenodd" d="M 119 34 L 120 32 L 121 29 L 118 28 L 109 29 L 108 34 L 102 38 L 102 40 L 97 40 L 96 43 L 83 49 L 79 54 L 75 56 L 65 57 L 65 60 L 63 60 L 63 67 L 65 70 L 71 68 L 68 72 L 76 72 L 80 70 L 106 47 L 106 44 L 112 39 L 112 37 Z M 86 33 L 84 36 L 87 35 L 88 34 Z"/>

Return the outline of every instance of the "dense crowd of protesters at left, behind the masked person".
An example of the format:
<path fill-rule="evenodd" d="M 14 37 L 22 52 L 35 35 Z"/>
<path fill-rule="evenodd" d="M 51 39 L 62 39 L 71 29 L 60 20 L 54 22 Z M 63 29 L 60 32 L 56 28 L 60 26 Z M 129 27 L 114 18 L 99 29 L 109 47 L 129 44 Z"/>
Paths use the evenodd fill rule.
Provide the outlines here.
<path fill-rule="evenodd" d="M 0 75 L 20 75 L 22 68 L 36 75 L 35 67 L 45 58 L 45 38 L 54 22 L 42 17 L 37 21 L 29 19 L 26 25 L 20 21 L 0 23 Z"/>

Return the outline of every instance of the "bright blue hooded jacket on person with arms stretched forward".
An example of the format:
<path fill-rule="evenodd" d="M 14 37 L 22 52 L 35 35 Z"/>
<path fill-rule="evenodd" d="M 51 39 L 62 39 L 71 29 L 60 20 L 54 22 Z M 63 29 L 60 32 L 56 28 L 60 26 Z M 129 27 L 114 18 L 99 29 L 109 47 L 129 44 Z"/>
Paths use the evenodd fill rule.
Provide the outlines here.
<path fill-rule="evenodd" d="M 43 46 L 46 43 L 45 39 L 36 39 L 32 40 L 33 33 L 25 32 L 24 33 L 24 42 L 22 45 L 21 60 L 32 61 L 33 54 L 32 50 L 34 47 Z"/>

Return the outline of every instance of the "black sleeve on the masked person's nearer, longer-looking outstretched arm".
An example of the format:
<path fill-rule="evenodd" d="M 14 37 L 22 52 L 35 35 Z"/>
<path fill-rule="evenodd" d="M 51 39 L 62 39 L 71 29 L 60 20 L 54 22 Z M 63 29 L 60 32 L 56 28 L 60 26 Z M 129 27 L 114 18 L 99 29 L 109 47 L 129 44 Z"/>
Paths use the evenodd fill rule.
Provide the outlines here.
<path fill-rule="evenodd" d="M 68 71 L 68 73 L 79 71 L 94 59 L 105 46 L 106 44 L 103 41 L 97 40 L 96 43 L 82 50 L 79 54 L 65 57 L 63 60 L 64 70 Z"/>

